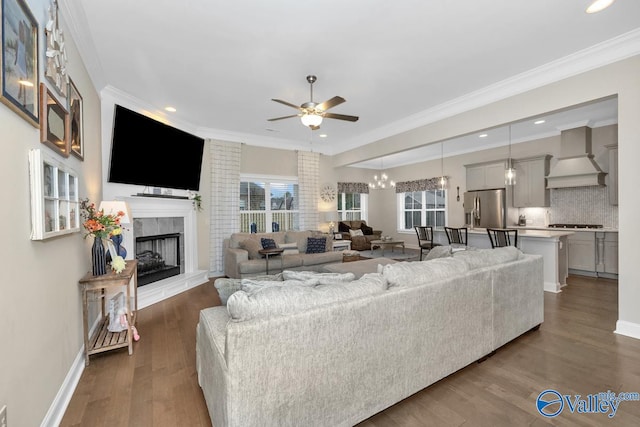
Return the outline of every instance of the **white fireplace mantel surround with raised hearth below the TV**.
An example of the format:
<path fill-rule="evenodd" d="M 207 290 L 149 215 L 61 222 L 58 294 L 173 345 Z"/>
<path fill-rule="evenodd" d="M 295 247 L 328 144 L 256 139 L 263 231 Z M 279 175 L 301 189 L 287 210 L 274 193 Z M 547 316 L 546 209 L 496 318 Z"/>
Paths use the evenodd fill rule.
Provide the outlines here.
<path fill-rule="evenodd" d="M 208 281 L 206 270 L 198 270 L 198 230 L 193 202 L 186 199 L 126 196 L 116 197 L 129 205 L 135 218 L 176 218 L 184 220 L 184 273 L 150 283 L 138 289 L 138 307 L 156 302 L 199 286 Z M 132 224 L 123 224 L 127 259 L 135 258 L 135 237 Z"/>

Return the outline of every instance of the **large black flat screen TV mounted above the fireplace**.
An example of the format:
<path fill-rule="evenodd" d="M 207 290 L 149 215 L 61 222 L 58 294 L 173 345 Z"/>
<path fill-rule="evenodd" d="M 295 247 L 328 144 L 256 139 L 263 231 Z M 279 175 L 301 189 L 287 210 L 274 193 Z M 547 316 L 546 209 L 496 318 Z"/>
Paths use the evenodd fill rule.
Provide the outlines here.
<path fill-rule="evenodd" d="M 109 182 L 200 189 L 204 139 L 115 106 Z"/>

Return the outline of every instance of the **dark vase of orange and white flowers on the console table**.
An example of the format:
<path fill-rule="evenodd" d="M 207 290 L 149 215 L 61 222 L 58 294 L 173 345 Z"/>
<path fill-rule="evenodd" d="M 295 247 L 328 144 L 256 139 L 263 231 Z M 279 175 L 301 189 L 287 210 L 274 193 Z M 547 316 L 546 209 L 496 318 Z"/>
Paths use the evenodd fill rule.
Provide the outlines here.
<path fill-rule="evenodd" d="M 104 241 L 122 233 L 120 220 L 124 216 L 124 212 L 105 215 L 103 210 L 96 209 L 95 203 L 90 203 L 88 199 L 80 202 L 80 208 L 84 219 L 82 226 L 87 231 L 85 237 L 93 236 L 94 238 L 93 246 L 91 247 L 91 271 L 94 276 L 107 274 L 107 253 L 104 248 Z M 116 273 L 120 273 L 126 263 L 115 250 L 112 257 L 111 268 Z"/>

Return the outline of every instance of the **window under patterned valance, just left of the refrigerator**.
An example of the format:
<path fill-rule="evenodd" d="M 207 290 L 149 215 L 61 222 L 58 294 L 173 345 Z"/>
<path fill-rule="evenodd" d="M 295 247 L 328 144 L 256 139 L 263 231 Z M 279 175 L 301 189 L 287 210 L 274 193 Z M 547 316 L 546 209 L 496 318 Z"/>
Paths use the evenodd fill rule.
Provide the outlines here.
<path fill-rule="evenodd" d="M 447 192 L 425 190 L 399 193 L 398 211 L 401 230 L 413 230 L 416 225 L 444 227 L 447 225 Z"/>

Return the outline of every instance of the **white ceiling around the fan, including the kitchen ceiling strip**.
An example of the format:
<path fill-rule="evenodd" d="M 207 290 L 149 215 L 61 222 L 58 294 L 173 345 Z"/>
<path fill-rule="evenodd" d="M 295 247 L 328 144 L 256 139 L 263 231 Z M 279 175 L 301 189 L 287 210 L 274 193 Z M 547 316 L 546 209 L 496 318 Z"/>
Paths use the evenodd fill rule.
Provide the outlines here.
<path fill-rule="evenodd" d="M 203 137 L 326 154 L 442 119 L 444 110 L 478 107 L 486 93 L 494 101 L 547 84 L 543 72 L 546 80 L 560 79 L 640 53 L 640 1 L 586 14 L 590 2 L 59 0 L 98 91 L 127 94 Z M 308 74 L 318 77 L 314 101 L 342 96 L 347 102 L 331 112 L 360 120 L 325 119 L 316 131 L 298 118 L 268 122 L 296 113 L 272 98 L 309 101 Z M 563 112 L 529 133 L 530 126 L 514 125 L 513 138 L 605 123 L 617 118 L 616 105 Z M 505 131 L 481 144 L 503 145 Z M 456 141 L 447 153 L 479 147 L 477 135 Z M 421 150 L 434 149 L 439 155 L 440 147 Z M 382 161 L 391 167 L 415 158 Z"/>

